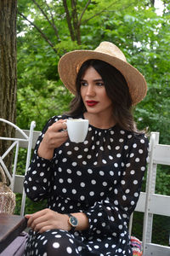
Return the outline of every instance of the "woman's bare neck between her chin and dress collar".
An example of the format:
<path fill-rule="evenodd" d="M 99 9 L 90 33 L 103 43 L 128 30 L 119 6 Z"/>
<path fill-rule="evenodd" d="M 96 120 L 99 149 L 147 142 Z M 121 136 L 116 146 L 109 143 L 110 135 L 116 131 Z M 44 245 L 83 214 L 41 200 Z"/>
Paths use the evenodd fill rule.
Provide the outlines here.
<path fill-rule="evenodd" d="M 93 125 L 99 129 L 109 129 L 112 126 L 116 125 L 116 121 L 113 119 L 113 116 L 103 116 L 100 114 L 93 114 L 85 112 L 84 118 L 88 119 L 89 124 Z"/>

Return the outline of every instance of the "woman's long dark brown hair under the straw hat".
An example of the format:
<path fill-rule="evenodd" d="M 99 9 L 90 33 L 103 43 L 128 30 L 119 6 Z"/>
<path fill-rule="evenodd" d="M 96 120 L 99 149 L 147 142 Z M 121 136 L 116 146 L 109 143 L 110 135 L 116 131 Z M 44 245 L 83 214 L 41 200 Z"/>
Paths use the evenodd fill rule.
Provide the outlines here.
<path fill-rule="evenodd" d="M 82 102 L 80 90 L 81 79 L 88 67 L 94 67 L 103 79 L 106 94 L 113 104 L 113 118 L 116 120 L 116 123 L 127 131 L 137 132 L 137 128 L 133 120 L 132 98 L 129 93 L 127 81 L 116 67 L 111 66 L 105 61 L 88 60 L 82 64 L 76 80 L 77 95 L 71 101 L 71 110 L 69 114 L 74 117 L 87 111 L 84 103 Z"/>

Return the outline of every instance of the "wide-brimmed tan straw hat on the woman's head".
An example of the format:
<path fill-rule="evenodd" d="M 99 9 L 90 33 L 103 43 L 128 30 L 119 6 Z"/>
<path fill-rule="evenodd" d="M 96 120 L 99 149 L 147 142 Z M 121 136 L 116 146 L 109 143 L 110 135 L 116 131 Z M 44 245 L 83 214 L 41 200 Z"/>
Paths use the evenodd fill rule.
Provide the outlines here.
<path fill-rule="evenodd" d="M 147 91 L 144 76 L 135 67 L 127 63 L 121 49 L 110 42 L 102 42 L 94 50 L 73 50 L 60 58 L 58 65 L 59 77 L 71 93 L 76 94 L 77 73 L 82 63 L 90 59 L 105 61 L 116 67 L 127 81 L 133 105 L 142 101 Z"/>

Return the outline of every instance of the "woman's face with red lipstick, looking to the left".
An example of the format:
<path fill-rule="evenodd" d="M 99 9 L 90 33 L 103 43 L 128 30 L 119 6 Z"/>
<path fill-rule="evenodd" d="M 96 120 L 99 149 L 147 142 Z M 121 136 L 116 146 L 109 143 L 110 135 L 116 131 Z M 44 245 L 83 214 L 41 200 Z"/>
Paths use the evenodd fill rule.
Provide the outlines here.
<path fill-rule="evenodd" d="M 112 114 L 112 102 L 105 91 L 105 84 L 94 67 L 88 67 L 81 79 L 82 101 L 88 113 Z"/>

